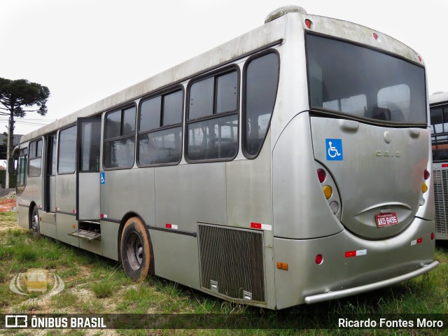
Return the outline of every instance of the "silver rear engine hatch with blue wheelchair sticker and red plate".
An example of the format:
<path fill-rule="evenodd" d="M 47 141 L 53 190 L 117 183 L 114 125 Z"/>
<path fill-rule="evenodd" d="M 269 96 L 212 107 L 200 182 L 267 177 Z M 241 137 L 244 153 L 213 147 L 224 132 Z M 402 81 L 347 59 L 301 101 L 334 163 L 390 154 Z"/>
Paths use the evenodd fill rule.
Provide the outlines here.
<path fill-rule="evenodd" d="M 404 230 L 423 200 L 428 130 L 310 119 L 314 158 L 337 185 L 342 225 L 367 239 Z"/>

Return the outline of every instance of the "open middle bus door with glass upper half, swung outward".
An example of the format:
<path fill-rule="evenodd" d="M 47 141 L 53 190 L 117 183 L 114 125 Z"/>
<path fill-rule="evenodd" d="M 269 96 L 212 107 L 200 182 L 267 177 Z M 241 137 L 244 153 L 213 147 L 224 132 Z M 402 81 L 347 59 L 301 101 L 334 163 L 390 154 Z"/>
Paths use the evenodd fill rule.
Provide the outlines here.
<path fill-rule="evenodd" d="M 78 118 L 76 219 L 99 221 L 101 118 Z"/>

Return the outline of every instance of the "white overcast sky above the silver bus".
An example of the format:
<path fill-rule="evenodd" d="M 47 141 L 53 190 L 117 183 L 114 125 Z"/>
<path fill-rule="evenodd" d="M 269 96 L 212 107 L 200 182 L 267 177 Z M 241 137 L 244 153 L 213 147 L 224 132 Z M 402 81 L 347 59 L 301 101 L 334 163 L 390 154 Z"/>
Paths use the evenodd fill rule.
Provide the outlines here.
<path fill-rule="evenodd" d="M 429 93 L 448 91 L 447 0 L 0 0 L 0 77 L 51 92 L 47 116 L 28 113 L 15 134 L 255 29 L 289 4 L 397 38 L 423 56 Z"/>

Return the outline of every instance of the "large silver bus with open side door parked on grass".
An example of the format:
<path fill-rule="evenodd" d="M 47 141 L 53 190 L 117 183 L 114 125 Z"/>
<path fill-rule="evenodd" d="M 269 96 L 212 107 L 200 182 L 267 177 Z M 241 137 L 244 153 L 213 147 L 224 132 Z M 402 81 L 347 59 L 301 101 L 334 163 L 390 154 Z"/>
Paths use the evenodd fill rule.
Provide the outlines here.
<path fill-rule="evenodd" d="M 426 73 L 297 6 L 22 137 L 18 225 L 283 309 L 437 267 Z"/>

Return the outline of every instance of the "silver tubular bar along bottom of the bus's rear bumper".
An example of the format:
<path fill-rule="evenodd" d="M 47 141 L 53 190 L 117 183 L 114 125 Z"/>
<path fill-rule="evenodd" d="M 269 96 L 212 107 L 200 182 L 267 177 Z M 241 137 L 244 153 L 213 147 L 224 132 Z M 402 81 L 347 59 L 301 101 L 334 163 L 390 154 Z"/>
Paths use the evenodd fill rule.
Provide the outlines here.
<path fill-rule="evenodd" d="M 416 269 L 415 271 L 409 272 L 407 274 L 402 274 L 400 276 L 395 276 L 391 279 L 386 279 L 383 281 L 378 281 L 374 283 L 369 283 L 367 285 L 353 287 L 353 288 L 347 288 L 344 290 L 336 290 L 336 291 L 330 291 L 327 293 L 322 294 L 316 294 L 316 295 L 309 295 L 305 297 L 305 303 L 312 304 L 317 302 L 323 302 L 328 300 L 334 300 L 339 299 L 341 297 L 346 297 L 350 295 L 357 295 L 360 293 L 364 293 L 370 290 L 377 290 L 379 288 L 387 287 L 394 285 L 395 283 L 400 283 L 402 281 L 406 281 L 412 278 L 415 278 L 416 276 L 419 276 L 421 274 L 425 274 L 429 272 L 432 269 L 435 269 L 439 265 L 438 261 L 433 261 L 430 264 L 423 265 L 420 269 Z"/>

